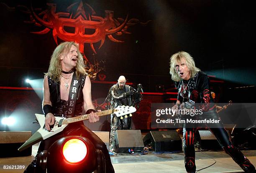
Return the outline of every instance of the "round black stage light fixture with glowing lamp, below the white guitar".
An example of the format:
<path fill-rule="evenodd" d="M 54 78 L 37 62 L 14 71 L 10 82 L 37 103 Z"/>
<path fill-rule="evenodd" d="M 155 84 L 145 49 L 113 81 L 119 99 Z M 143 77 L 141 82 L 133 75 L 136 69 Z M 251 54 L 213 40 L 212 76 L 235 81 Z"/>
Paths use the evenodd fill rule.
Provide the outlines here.
<path fill-rule="evenodd" d="M 42 157 L 37 160 L 42 168 L 47 168 L 48 173 L 91 173 L 100 164 L 93 143 L 82 136 L 60 138 L 51 145 L 46 155 L 47 159 Z"/>

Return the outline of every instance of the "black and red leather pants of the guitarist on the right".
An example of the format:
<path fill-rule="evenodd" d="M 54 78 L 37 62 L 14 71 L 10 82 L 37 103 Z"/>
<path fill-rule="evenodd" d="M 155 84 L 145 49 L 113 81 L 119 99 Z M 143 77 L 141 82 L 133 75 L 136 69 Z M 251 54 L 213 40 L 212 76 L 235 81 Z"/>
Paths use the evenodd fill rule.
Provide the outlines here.
<path fill-rule="evenodd" d="M 209 110 L 206 113 L 203 113 L 203 118 L 212 118 L 215 120 L 219 120 L 219 116 L 214 110 Z M 233 160 L 246 172 L 246 173 L 256 173 L 255 167 L 250 163 L 250 161 L 243 155 L 243 153 L 233 146 L 227 131 L 225 130 L 223 123 L 215 123 L 214 125 L 205 124 L 208 129 L 215 135 L 218 142 L 228 153 Z M 184 146 L 184 162 L 185 168 L 188 173 L 195 173 L 196 165 L 195 165 L 195 148 L 194 148 L 194 138 L 196 126 L 194 128 L 186 128 L 186 124 L 184 124 L 183 128 L 183 146 Z"/>

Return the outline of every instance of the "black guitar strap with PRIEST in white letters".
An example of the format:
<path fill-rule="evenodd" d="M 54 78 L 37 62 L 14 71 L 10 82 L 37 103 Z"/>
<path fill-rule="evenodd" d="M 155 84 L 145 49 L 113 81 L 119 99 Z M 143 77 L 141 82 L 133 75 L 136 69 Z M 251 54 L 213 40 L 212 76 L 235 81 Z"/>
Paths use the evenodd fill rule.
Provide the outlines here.
<path fill-rule="evenodd" d="M 71 86 L 69 88 L 69 100 L 68 100 L 68 115 L 67 118 L 74 116 L 74 109 L 77 101 L 77 92 L 78 92 L 78 80 L 77 75 L 74 71 L 74 75 L 71 81 Z"/>

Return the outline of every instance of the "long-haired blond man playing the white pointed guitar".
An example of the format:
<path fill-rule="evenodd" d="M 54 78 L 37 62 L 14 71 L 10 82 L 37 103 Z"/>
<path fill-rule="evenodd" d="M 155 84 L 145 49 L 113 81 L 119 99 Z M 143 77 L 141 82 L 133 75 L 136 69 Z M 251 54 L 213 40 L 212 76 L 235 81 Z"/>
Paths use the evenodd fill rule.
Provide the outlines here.
<path fill-rule="evenodd" d="M 86 114 L 90 113 L 90 123 L 99 121 L 92 105 L 91 82 L 84 70 L 83 57 L 79 52 L 79 47 L 74 42 L 64 42 L 54 50 L 48 73 L 44 77 L 43 110 L 46 116 L 46 130 L 51 130 L 50 126 L 54 125 L 54 116 L 69 118 L 81 115 L 82 106 Z M 105 143 L 89 128 L 85 127 L 82 121 L 70 123 L 62 132 L 41 141 L 38 154 L 43 150 L 48 150 L 59 138 L 68 135 L 79 135 L 91 140 L 95 148 L 102 150 L 105 155 L 106 172 L 115 172 Z M 41 173 L 45 170 L 37 165 L 36 160 L 33 160 L 25 172 Z"/>

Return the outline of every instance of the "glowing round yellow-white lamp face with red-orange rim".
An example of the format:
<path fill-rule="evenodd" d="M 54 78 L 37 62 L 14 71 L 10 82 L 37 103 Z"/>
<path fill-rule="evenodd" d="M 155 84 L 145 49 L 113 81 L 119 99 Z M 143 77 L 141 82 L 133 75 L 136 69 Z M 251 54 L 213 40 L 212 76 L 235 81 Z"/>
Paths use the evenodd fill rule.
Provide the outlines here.
<path fill-rule="evenodd" d="M 63 145 L 62 152 L 67 161 L 77 163 L 85 158 L 87 147 L 80 139 L 70 139 Z"/>

